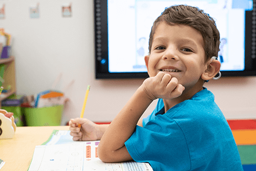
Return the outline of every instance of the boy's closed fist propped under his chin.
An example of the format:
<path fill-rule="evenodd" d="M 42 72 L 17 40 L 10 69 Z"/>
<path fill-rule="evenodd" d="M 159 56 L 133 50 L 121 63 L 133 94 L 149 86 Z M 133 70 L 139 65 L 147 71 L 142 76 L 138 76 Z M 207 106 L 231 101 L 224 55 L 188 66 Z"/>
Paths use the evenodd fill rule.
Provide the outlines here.
<path fill-rule="evenodd" d="M 150 77 L 144 80 L 142 87 L 151 100 L 157 98 L 173 99 L 179 97 L 185 89 L 181 84 L 178 84 L 178 79 L 159 72 L 155 77 Z"/>

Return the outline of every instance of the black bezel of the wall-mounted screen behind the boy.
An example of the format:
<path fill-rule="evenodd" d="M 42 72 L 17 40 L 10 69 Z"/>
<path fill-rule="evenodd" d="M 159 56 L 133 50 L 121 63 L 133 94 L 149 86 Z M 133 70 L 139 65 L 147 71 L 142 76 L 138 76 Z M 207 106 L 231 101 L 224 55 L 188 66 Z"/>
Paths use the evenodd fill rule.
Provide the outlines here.
<path fill-rule="evenodd" d="M 256 75 L 256 6 L 245 13 L 245 70 L 221 71 L 222 76 L 254 76 Z M 108 2 L 94 0 L 95 30 L 95 77 L 104 78 L 147 78 L 147 72 L 109 72 L 108 52 Z M 101 63 L 102 59 L 105 61 Z"/>

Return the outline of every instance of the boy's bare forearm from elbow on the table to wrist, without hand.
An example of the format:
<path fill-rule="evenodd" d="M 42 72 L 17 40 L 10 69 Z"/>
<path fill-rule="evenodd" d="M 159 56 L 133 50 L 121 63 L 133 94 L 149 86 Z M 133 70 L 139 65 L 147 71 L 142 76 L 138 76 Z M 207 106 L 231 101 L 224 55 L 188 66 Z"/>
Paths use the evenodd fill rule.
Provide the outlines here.
<path fill-rule="evenodd" d="M 111 122 L 98 146 L 98 156 L 104 162 L 132 160 L 124 142 L 131 137 L 139 118 L 153 100 L 139 88 Z"/>

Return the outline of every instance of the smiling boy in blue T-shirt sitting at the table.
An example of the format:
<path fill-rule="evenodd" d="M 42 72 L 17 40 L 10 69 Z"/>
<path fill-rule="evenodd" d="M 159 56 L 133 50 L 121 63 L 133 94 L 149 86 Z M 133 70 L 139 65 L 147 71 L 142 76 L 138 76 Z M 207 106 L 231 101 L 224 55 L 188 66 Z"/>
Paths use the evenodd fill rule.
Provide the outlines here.
<path fill-rule="evenodd" d="M 203 87 L 220 71 L 214 19 L 172 6 L 155 20 L 145 79 L 110 125 L 71 119 L 73 140 L 100 139 L 104 162 L 148 162 L 154 170 L 243 170 L 232 132 L 214 95 Z M 159 99 L 153 113 L 139 120 Z M 81 130 L 76 124 L 81 124 Z"/>

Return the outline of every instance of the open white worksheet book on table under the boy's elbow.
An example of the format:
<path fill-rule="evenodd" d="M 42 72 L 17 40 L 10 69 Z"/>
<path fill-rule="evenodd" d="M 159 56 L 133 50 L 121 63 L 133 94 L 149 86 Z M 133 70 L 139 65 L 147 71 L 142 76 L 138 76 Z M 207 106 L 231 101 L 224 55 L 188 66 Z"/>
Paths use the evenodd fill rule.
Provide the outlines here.
<path fill-rule="evenodd" d="M 148 163 L 104 163 L 97 156 L 99 141 L 74 142 L 69 131 L 55 130 L 44 144 L 35 147 L 28 171 L 153 171 Z"/>

